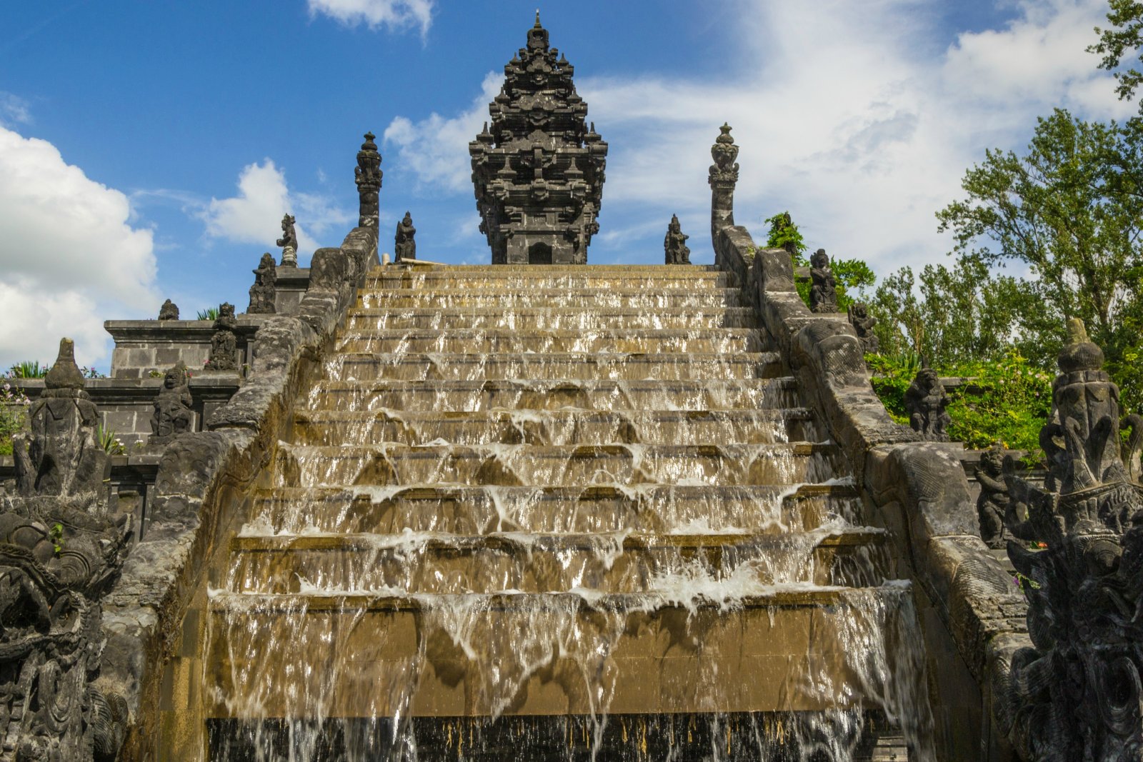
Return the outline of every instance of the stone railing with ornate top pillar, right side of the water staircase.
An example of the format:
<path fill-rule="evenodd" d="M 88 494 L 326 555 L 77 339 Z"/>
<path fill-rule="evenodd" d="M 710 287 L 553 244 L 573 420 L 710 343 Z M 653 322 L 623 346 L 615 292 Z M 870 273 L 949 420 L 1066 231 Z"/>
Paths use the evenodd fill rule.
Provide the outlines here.
<path fill-rule="evenodd" d="M 718 152 L 726 153 L 719 146 L 717 162 Z M 1008 759 L 1007 738 L 992 719 L 991 687 L 1004 671 L 998 665 L 1030 643 L 1028 607 L 980 537 L 960 448 L 919 441 L 889 418 L 854 329 L 812 313 L 794 287 L 789 252 L 758 249 L 749 231 L 734 225 L 733 189 L 718 187 L 717 170 L 711 168 L 716 264 L 738 276 L 806 402 L 853 465 L 862 498 L 911 568 L 940 756 Z"/>

